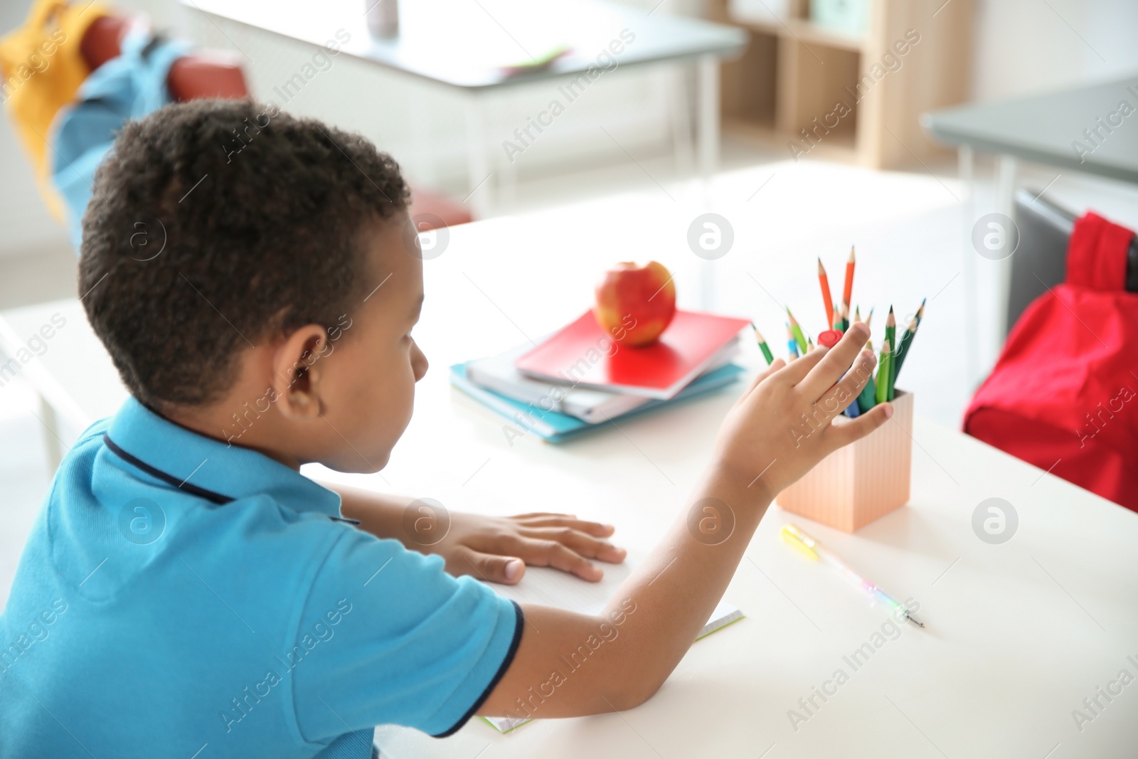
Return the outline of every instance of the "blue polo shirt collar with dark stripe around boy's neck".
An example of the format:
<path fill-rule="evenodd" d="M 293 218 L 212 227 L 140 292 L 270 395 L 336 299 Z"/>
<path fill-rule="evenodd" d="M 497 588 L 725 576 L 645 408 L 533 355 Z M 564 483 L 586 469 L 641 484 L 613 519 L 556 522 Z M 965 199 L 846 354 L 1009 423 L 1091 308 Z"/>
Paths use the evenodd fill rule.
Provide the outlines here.
<path fill-rule="evenodd" d="M 215 503 L 267 495 L 294 511 L 340 515 L 337 493 L 262 453 L 175 424 L 137 398 L 127 398 L 118 410 L 106 437 L 107 447 L 121 459 Z"/>

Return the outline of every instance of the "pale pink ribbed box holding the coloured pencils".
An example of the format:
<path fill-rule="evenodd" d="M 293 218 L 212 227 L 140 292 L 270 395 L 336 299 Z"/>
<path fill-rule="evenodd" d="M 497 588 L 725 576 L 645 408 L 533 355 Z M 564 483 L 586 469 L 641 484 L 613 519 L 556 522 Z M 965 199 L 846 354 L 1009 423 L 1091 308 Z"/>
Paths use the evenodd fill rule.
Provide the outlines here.
<path fill-rule="evenodd" d="M 897 390 L 892 403 L 891 420 L 818 462 L 778 494 L 778 505 L 853 533 L 908 503 L 913 394 Z"/>

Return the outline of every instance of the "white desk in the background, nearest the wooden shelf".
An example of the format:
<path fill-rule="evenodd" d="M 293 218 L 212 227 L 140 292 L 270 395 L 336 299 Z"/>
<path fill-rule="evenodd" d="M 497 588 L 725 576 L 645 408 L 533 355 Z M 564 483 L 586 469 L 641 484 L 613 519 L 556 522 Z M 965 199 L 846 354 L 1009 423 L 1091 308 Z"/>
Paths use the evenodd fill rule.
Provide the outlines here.
<path fill-rule="evenodd" d="M 495 160 L 495 157 L 501 158 L 498 143 L 502 138 L 519 138 L 487 132 L 493 108 L 488 96 L 506 88 L 544 82 L 550 98 L 568 107 L 578 96 L 568 84 L 570 81 L 582 89 L 601 76 L 616 76 L 595 74 L 597 56 L 602 52 L 616 61 L 610 71 L 694 61 L 698 68 L 698 160 L 701 175 L 710 179 L 719 157 L 719 61 L 742 53 L 748 42 L 747 34 L 732 26 L 673 16 L 663 10 L 654 13 L 655 8 L 642 10 L 597 0 L 545 0 L 539 3 L 525 0 L 405 1 L 399 7 L 399 34 L 390 40 L 378 40 L 369 34 L 364 8 L 374 3 L 362 0 L 183 2 L 218 19 L 314 46 L 323 46 L 339 30 L 349 38 L 343 46 L 347 55 L 462 93 L 467 118 L 468 198 L 479 217 L 489 214 L 494 187 L 502 178 L 512 181 L 517 171 L 512 156 L 508 162 Z M 625 46 L 621 40 L 629 43 Z M 616 47 L 610 49 L 613 43 Z M 541 57 L 561 44 L 569 51 L 545 68 L 517 75 L 503 71 L 506 65 L 529 63 L 531 56 Z M 615 50 L 620 50 L 619 55 L 613 56 L 611 51 Z M 601 64 L 612 66 L 605 59 Z M 589 69 L 593 74 L 585 76 Z M 558 83 L 570 89 L 554 89 Z M 683 76 L 675 79 L 673 89 L 671 127 L 677 150 L 686 150 L 688 104 Z M 288 100 L 279 90 L 261 96 L 273 100 L 281 100 L 283 96 L 283 100 Z M 551 126 L 555 116 L 534 115 L 544 126 Z M 527 127 L 526 124 L 518 126 Z M 531 132 L 528 139 L 534 138 Z M 599 134 L 597 139 L 607 138 Z M 494 143 L 493 150 L 490 143 Z M 521 142 L 518 147 L 525 145 L 528 143 Z"/>

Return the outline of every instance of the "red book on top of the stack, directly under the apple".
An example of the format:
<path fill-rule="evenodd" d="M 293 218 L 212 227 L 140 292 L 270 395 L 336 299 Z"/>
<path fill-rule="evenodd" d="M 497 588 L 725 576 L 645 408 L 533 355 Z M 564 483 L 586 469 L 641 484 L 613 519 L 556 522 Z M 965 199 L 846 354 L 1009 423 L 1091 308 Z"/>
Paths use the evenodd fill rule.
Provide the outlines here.
<path fill-rule="evenodd" d="M 653 345 L 621 346 L 586 311 L 517 361 L 522 374 L 559 385 L 612 390 L 667 401 L 733 352 L 739 331 L 750 322 L 715 314 L 677 311 Z"/>

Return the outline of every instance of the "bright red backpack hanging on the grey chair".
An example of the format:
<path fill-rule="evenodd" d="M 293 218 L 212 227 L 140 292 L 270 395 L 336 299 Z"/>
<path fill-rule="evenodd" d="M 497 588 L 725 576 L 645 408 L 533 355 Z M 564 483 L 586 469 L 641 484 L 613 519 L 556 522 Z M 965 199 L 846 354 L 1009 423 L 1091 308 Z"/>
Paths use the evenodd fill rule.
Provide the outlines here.
<path fill-rule="evenodd" d="M 1066 282 L 1023 312 L 964 431 L 1138 511 L 1138 294 L 1125 291 L 1133 237 L 1092 213 L 1075 222 Z"/>

